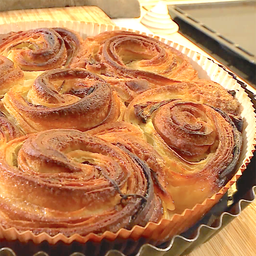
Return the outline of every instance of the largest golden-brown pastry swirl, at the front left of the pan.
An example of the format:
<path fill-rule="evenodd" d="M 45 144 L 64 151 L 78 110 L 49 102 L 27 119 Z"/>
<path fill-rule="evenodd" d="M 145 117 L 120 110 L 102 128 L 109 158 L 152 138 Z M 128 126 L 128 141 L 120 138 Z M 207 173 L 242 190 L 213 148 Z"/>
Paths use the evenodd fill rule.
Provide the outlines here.
<path fill-rule="evenodd" d="M 162 216 L 148 166 L 121 145 L 52 129 L 16 138 L 0 151 L 4 228 L 102 234 Z"/>

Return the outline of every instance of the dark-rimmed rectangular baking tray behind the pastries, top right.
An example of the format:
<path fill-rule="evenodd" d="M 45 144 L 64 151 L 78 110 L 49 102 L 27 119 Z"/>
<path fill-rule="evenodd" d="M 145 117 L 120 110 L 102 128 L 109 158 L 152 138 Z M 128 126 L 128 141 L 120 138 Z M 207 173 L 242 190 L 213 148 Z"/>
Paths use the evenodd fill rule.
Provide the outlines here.
<path fill-rule="evenodd" d="M 256 1 L 168 6 L 179 32 L 256 88 Z"/>

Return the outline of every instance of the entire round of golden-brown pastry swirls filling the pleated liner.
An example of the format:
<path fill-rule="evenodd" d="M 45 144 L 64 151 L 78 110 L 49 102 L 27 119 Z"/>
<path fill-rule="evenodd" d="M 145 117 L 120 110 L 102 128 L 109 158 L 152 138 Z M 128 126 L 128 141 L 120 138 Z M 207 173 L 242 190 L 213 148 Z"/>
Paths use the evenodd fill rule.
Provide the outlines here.
<path fill-rule="evenodd" d="M 1 89 L 4 228 L 85 236 L 157 223 L 237 171 L 237 100 L 153 38 L 82 40 L 64 28 L 2 35 Z"/>

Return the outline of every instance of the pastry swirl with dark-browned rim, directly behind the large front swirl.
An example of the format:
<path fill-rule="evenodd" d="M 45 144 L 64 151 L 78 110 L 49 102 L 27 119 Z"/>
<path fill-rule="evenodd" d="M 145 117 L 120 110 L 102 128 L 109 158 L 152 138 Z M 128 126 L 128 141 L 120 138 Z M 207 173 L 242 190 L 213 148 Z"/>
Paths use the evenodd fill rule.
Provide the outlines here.
<path fill-rule="evenodd" d="M 45 71 L 14 86 L 2 103 L 23 133 L 52 128 L 81 131 L 123 118 L 124 104 L 106 81 L 85 69 Z"/>

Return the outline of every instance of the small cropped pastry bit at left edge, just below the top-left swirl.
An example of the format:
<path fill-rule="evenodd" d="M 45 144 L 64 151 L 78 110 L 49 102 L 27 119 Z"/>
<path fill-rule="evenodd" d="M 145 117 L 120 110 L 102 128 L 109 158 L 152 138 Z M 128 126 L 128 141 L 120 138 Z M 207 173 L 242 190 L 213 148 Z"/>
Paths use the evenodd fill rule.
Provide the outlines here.
<path fill-rule="evenodd" d="M 24 74 L 19 66 L 15 65 L 11 60 L 0 55 L 0 98 L 13 85 L 21 84 L 24 81 Z"/>

